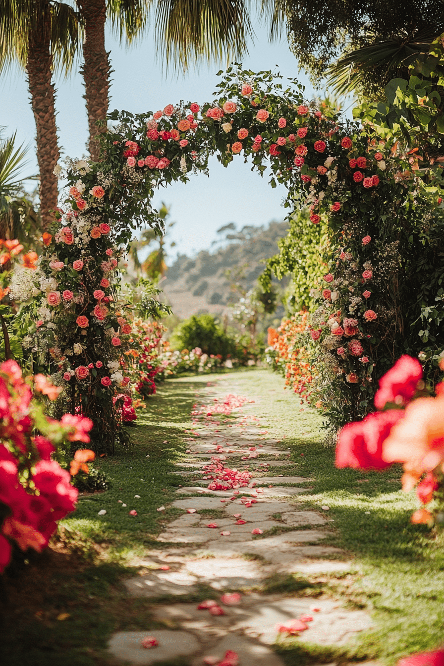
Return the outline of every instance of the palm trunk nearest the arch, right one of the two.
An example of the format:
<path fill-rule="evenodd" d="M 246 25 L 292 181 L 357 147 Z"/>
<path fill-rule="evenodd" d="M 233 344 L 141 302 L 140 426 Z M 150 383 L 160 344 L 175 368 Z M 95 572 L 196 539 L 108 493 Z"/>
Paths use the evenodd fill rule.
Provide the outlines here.
<path fill-rule="evenodd" d="M 89 153 L 91 159 L 99 160 L 99 133 L 106 131 L 108 113 L 108 90 L 111 66 L 109 53 L 105 51 L 105 21 L 107 7 L 105 0 L 77 0 L 85 39 L 83 41 L 83 79 L 85 83 L 85 99 L 87 101 L 89 125 Z M 97 121 L 102 121 L 97 125 Z"/>

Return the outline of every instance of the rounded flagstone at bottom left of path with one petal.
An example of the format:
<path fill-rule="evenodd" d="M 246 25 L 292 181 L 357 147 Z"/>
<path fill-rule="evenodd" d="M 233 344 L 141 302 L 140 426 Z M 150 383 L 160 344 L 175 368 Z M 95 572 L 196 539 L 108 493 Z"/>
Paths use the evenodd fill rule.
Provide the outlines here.
<path fill-rule="evenodd" d="M 146 636 L 158 640 L 158 646 L 151 649 L 141 647 L 140 643 Z M 134 666 L 150 664 L 189 657 L 200 650 L 200 643 L 186 631 L 169 631 L 167 629 L 147 629 L 146 631 L 118 631 L 112 635 L 108 649 L 116 659 L 122 659 Z"/>

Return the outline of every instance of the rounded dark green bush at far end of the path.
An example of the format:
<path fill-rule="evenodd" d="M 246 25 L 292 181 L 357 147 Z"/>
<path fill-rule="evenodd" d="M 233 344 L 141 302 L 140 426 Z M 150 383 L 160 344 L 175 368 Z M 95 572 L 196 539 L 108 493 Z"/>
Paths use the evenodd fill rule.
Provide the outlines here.
<path fill-rule="evenodd" d="M 222 358 L 235 353 L 234 340 L 211 314 L 198 314 L 186 319 L 174 330 L 171 342 L 179 350 L 191 351 L 198 347 L 204 354 L 220 354 Z"/>

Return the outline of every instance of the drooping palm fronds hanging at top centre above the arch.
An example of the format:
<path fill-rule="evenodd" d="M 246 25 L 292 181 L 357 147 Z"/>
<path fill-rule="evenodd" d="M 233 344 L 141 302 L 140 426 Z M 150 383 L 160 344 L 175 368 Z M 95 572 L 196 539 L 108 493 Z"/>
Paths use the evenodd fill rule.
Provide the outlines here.
<path fill-rule="evenodd" d="M 156 47 L 167 66 L 240 59 L 252 33 L 244 0 L 158 0 Z"/>

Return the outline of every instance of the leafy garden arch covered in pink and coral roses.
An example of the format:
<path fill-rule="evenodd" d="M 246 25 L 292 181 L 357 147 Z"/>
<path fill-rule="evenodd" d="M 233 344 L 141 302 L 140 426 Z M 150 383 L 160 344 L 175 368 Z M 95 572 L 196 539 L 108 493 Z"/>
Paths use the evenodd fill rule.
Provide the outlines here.
<path fill-rule="evenodd" d="M 431 242 L 443 236 L 437 188 L 423 186 L 401 146 L 307 103 L 296 80 L 284 87 L 270 72 L 238 67 L 228 69 L 212 103 L 114 111 L 109 120 L 101 161 L 58 168 L 67 194 L 33 278 L 35 358 L 49 359 L 71 410 L 93 419 L 97 448 L 113 448 L 122 433 L 112 398 L 129 382 L 132 316 L 119 296 L 118 260 L 136 228 L 162 230 L 150 207 L 155 188 L 205 171 L 212 154 L 224 166 L 250 157 L 261 175 L 270 168 L 270 186 L 288 188 L 290 214 L 309 206 L 310 223 L 327 228 L 330 268 L 324 284 L 313 285 L 319 308 L 310 331 L 324 373 L 320 394 L 335 400 L 339 391 L 339 402 L 349 403 L 346 418 L 365 413 L 375 369 L 380 376 L 409 339 L 406 299 L 420 290 L 419 273 L 431 260 L 424 250 L 431 211 Z"/>

